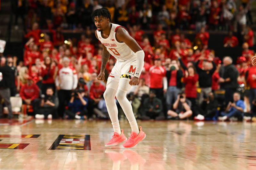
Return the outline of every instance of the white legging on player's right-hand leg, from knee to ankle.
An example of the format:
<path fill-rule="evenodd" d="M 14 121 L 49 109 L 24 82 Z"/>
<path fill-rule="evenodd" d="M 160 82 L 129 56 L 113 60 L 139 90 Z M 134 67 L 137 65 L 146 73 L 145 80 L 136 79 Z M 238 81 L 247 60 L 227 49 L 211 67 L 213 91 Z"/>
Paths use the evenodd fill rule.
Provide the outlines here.
<path fill-rule="evenodd" d="M 129 85 L 129 81 L 128 81 L 128 85 Z M 120 106 L 122 107 L 125 116 L 127 117 L 128 121 L 130 123 L 132 131 L 139 134 L 139 128 L 138 128 L 138 125 L 137 125 L 137 121 L 136 121 L 134 113 L 132 111 L 132 104 L 126 98 L 126 93 L 127 92 L 124 92 L 123 90 L 118 89 L 117 93 L 116 93 L 116 98 L 117 98 Z"/>

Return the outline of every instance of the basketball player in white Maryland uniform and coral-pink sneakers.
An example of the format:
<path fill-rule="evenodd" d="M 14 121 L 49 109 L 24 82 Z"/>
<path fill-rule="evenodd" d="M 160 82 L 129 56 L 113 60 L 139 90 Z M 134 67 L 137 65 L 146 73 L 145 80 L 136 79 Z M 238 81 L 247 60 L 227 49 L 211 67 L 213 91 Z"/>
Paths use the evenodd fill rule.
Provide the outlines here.
<path fill-rule="evenodd" d="M 92 20 L 97 27 L 95 36 L 100 40 L 103 47 L 100 74 L 97 79 L 104 81 L 104 71 L 110 55 L 117 60 L 108 76 L 106 91 L 103 95 L 114 128 L 114 135 L 105 146 L 115 146 L 127 140 L 124 130 L 121 130 L 119 126 L 116 96 L 132 128 L 131 136 L 123 146 L 132 148 L 142 141 L 146 134 L 142 131 L 141 126 L 138 128 L 132 112 L 132 105 L 126 98 L 126 93 L 132 85 L 139 83 L 145 54 L 139 44 L 129 35 L 126 28 L 110 22 L 111 16 L 108 9 L 101 8 L 92 12 Z"/>

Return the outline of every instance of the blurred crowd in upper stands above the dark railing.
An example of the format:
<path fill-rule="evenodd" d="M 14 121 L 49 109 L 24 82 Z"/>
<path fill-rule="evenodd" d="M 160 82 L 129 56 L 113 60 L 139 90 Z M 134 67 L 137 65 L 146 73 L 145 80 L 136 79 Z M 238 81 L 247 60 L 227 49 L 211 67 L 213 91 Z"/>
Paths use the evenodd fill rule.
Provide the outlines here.
<path fill-rule="evenodd" d="M 18 1 L 16 3 L 16 1 Z M 13 9 L 15 23 L 20 16 L 24 27 L 38 22 L 41 29 L 51 21 L 54 28 L 81 30 L 93 27 L 91 14 L 101 7 L 108 8 L 111 20 L 125 27 L 142 25 L 142 29 L 192 29 L 244 32 L 252 25 L 252 0 L 16 0 Z M 25 15 L 27 15 L 25 22 Z"/>

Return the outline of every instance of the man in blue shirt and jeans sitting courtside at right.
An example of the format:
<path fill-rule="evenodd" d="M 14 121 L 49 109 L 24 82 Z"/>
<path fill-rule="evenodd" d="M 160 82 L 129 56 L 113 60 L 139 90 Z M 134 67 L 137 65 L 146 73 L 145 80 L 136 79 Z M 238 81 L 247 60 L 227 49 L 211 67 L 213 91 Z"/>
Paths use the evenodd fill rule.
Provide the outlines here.
<path fill-rule="evenodd" d="M 221 112 L 219 120 L 227 120 L 231 117 L 242 118 L 244 112 L 244 101 L 240 99 L 240 94 L 235 92 L 233 94 L 234 102 L 229 102 L 225 112 Z"/>

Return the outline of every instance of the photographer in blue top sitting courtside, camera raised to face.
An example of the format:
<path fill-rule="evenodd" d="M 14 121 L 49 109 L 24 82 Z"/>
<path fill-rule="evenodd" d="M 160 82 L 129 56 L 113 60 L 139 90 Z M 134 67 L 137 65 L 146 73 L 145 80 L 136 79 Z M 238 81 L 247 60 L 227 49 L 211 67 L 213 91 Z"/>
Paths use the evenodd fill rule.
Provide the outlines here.
<path fill-rule="evenodd" d="M 64 112 L 64 119 L 87 119 L 88 99 L 84 95 L 84 89 L 75 90 L 71 94 L 71 99 L 68 103 L 68 110 Z"/>

